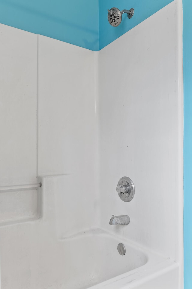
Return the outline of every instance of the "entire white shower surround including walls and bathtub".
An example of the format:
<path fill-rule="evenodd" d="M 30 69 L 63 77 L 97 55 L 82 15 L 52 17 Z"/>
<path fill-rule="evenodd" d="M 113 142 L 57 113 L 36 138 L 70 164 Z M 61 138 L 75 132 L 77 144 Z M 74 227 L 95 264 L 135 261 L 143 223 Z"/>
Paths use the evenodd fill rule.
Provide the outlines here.
<path fill-rule="evenodd" d="M 0 31 L 0 186 L 43 184 L 0 194 L 1 289 L 183 288 L 182 2 L 98 52 Z M 115 191 L 125 175 L 130 203 Z M 110 226 L 112 214 L 130 224 Z M 90 267 L 106 262 L 87 284 L 73 274 L 88 269 L 85 244 Z"/>

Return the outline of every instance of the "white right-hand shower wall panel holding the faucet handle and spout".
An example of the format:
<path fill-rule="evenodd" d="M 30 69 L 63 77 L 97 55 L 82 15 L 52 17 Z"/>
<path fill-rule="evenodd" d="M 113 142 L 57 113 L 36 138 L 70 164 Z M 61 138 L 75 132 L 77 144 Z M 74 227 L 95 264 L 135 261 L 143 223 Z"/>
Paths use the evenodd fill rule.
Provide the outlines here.
<path fill-rule="evenodd" d="M 170 3 L 100 51 L 98 111 L 101 226 L 182 264 L 178 5 Z M 130 203 L 116 192 L 123 176 L 135 185 Z M 109 226 L 112 214 L 129 215 L 130 224 Z"/>

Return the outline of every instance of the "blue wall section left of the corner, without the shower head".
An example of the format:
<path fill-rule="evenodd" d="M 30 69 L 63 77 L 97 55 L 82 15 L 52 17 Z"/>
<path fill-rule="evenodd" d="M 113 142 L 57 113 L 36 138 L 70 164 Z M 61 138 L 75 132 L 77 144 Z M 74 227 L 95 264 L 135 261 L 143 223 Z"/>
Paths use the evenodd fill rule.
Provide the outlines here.
<path fill-rule="evenodd" d="M 0 0 L 0 23 L 99 49 L 98 0 Z"/>

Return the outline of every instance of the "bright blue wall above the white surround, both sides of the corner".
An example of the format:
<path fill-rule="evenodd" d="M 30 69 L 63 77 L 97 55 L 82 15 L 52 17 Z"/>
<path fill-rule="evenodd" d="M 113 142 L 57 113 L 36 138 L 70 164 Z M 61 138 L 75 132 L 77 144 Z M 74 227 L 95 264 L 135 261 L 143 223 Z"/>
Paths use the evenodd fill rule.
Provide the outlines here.
<path fill-rule="evenodd" d="M 98 51 L 173 0 L 0 0 L 0 23 Z M 112 27 L 107 9 L 135 9 Z"/>

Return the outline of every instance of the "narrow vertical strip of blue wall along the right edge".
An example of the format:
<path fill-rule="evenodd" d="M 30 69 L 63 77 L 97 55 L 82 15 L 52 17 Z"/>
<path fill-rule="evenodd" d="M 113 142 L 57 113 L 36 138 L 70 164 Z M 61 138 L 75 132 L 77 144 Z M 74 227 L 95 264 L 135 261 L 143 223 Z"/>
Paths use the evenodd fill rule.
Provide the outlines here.
<path fill-rule="evenodd" d="M 184 289 L 192 288 L 192 1 L 183 0 Z"/>

